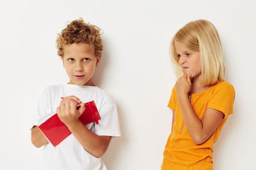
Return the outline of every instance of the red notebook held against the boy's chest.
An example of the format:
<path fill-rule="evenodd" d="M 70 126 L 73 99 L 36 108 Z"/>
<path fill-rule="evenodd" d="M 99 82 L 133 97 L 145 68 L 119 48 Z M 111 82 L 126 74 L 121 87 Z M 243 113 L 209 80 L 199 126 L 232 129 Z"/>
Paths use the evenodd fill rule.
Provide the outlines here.
<path fill-rule="evenodd" d="M 80 106 L 77 106 L 77 109 L 78 108 L 80 108 Z M 84 125 L 90 124 L 92 122 L 99 124 L 98 120 L 100 120 L 100 115 L 94 101 L 85 103 L 85 108 L 86 109 L 84 113 L 79 117 L 79 120 Z M 71 134 L 68 127 L 63 122 L 61 122 L 57 113 L 52 115 L 52 117 L 48 118 L 38 127 L 54 147 Z"/>

